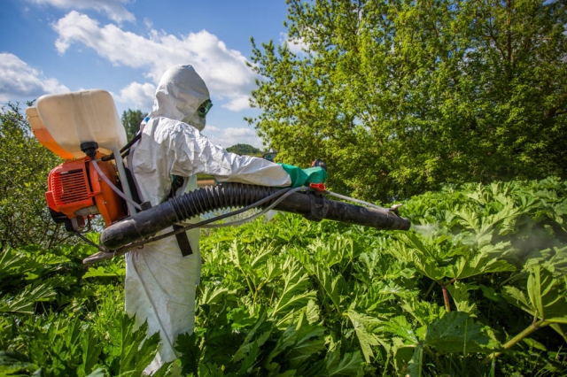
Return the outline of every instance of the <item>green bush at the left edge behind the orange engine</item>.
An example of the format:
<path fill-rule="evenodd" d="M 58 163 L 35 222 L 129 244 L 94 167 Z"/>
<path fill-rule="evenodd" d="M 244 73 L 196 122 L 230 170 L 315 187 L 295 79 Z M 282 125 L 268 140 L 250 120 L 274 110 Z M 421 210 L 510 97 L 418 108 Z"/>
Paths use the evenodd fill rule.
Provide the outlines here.
<path fill-rule="evenodd" d="M 35 140 L 19 105 L 5 105 L 0 111 L 0 250 L 32 243 L 50 247 L 66 238 L 44 199 L 47 176 L 60 163 Z"/>

